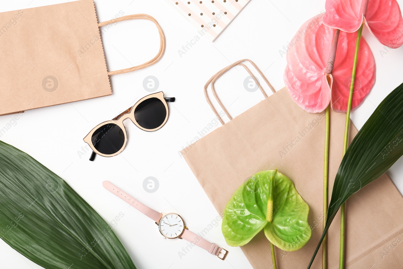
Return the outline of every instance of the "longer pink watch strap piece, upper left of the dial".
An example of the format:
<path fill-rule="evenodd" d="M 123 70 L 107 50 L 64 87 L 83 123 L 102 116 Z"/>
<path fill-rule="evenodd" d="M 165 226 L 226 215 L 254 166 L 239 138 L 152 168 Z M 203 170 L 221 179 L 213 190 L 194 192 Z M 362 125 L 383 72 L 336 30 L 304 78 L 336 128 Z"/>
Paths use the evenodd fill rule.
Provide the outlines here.
<path fill-rule="evenodd" d="M 159 213 L 153 209 L 150 209 L 150 207 L 142 204 L 137 199 L 131 197 L 129 194 L 127 194 L 123 190 L 120 190 L 118 187 L 116 187 L 109 181 L 102 182 L 102 186 L 104 186 L 104 188 L 106 190 L 112 192 L 114 195 L 118 196 L 120 199 L 127 202 L 128 204 L 133 206 L 135 209 L 137 209 L 138 211 L 140 211 L 141 213 L 143 213 L 144 215 L 146 215 L 153 221 L 158 222 L 160 220 L 160 218 L 162 217 L 161 213 Z"/>

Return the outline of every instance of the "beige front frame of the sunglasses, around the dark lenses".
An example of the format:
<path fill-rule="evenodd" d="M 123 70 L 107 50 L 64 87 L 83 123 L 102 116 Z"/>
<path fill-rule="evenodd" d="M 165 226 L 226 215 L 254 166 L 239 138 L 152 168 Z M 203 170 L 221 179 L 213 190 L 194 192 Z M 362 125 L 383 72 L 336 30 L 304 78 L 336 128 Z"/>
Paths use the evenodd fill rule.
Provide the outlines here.
<path fill-rule="evenodd" d="M 147 100 L 147 99 L 150 99 L 150 98 L 158 98 L 158 99 L 160 99 L 160 100 L 162 101 L 162 103 L 164 104 L 165 109 L 166 109 L 166 116 L 165 116 L 164 122 L 163 122 L 160 126 L 158 126 L 157 128 L 154 128 L 154 129 L 146 129 L 146 128 L 144 128 L 144 127 L 141 127 L 141 126 L 137 123 L 137 121 L 136 121 L 136 119 L 135 119 L 135 117 L 134 117 L 134 111 L 136 110 L 136 107 L 137 107 L 141 102 L 143 102 L 144 100 Z M 173 98 L 172 98 L 172 99 L 173 99 Z M 98 155 L 101 155 L 101 156 L 104 156 L 104 157 L 116 156 L 117 154 L 119 154 L 120 152 L 122 152 L 122 151 L 125 149 L 126 144 L 127 144 L 127 131 L 126 131 L 125 125 L 123 124 L 123 121 L 124 121 L 125 119 L 129 118 L 129 119 L 134 123 L 134 125 L 136 125 L 136 126 L 139 127 L 140 129 L 142 129 L 142 130 L 144 130 L 144 131 L 149 131 L 149 132 L 151 132 L 151 131 L 156 131 L 156 130 L 160 129 L 162 126 L 164 126 L 165 123 L 166 123 L 166 121 L 168 120 L 168 115 L 169 115 L 169 108 L 168 108 L 168 104 L 166 103 L 166 100 L 165 100 L 165 98 L 164 98 L 164 93 L 163 93 L 163 92 L 156 92 L 156 93 L 154 93 L 154 94 L 149 94 L 149 95 L 147 95 L 147 96 L 144 96 L 144 97 L 141 98 L 140 100 L 138 100 L 138 101 L 135 103 L 134 106 L 131 106 L 131 107 L 128 108 L 126 111 L 123 111 L 122 113 L 120 113 L 119 115 L 117 115 L 116 117 L 114 117 L 112 120 L 110 120 L 110 121 L 104 121 L 103 123 L 98 124 L 96 127 L 94 127 L 94 128 L 85 136 L 85 138 L 83 138 L 83 140 L 84 140 L 85 143 L 87 143 L 87 144 L 91 147 L 91 149 L 93 150 L 93 152 L 95 152 L 95 153 L 98 154 Z M 103 153 L 99 152 L 98 150 L 96 150 L 96 148 L 95 148 L 95 147 L 93 146 L 93 144 L 92 144 L 91 138 L 92 138 L 92 134 L 93 134 L 98 128 L 100 128 L 100 127 L 103 126 L 103 125 L 107 125 L 107 124 L 109 124 L 109 123 L 116 124 L 116 125 L 118 125 L 118 126 L 120 127 L 120 129 L 123 130 L 123 133 L 124 133 L 124 135 L 125 135 L 125 142 L 123 143 L 122 148 L 120 148 L 116 153 L 114 153 L 114 154 L 103 154 Z"/>

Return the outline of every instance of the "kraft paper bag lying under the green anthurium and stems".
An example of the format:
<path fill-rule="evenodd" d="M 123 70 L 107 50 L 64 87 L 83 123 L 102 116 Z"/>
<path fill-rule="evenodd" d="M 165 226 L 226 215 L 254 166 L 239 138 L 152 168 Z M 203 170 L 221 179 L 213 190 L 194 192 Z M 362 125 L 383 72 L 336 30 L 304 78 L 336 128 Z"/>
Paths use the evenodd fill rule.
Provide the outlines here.
<path fill-rule="evenodd" d="M 234 65 L 242 65 L 241 62 L 226 67 L 210 79 L 216 98 L 214 81 L 217 76 Z M 268 83 L 265 77 L 264 80 Z M 205 94 L 212 106 L 206 91 L 208 83 Z M 229 115 L 224 106 L 222 108 Z M 345 113 L 330 114 L 329 200 L 342 159 L 345 117 Z M 277 268 L 306 268 L 322 235 L 325 121 L 324 113 L 303 111 L 283 88 L 181 151 L 218 213 L 224 211 L 235 190 L 259 171 L 277 168 L 293 181 L 310 207 L 308 221 L 312 237 L 294 252 L 275 248 Z M 357 134 L 352 123 L 350 130 L 352 140 Z M 346 268 L 402 267 L 402 208 L 403 198 L 386 174 L 349 198 L 346 202 Z M 339 268 L 339 223 L 340 215 L 335 217 L 328 232 L 329 269 Z M 241 249 L 254 269 L 271 268 L 270 244 L 263 231 Z M 229 251 L 231 255 L 231 249 Z M 319 250 L 313 269 L 322 268 L 321 253 Z"/>

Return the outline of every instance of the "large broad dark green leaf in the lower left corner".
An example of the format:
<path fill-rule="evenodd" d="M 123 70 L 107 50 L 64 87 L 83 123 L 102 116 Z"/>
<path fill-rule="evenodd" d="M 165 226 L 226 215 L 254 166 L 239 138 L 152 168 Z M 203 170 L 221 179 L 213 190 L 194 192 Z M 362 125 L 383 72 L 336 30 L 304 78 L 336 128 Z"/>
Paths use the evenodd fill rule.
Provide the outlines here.
<path fill-rule="evenodd" d="M 112 228 L 63 179 L 0 141 L 0 238 L 47 269 L 135 269 Z"/>

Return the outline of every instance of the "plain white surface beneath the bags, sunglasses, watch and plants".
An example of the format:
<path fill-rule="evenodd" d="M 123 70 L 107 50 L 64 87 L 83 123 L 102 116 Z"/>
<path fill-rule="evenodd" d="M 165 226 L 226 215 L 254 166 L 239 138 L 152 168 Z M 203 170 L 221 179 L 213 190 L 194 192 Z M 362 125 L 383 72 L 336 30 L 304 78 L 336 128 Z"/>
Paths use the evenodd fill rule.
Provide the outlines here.
<path fill-rule="evenodd" d="M 65 0 L 2 1 L 0 11 L 62 2 Z M 123 213 L 124 217 L 117 222 L 114 231 L 139 269 L 251 268 L 240 248 L 226 245 L 221 223 L 214 223 L 219 213 L 179 150 L 196 136 L 200 138 L 198 131 L 209 123 L 214 126 L 210 131 L 219 127 L 206 103 L 203 87 L 223 67 L 249 58 L 264 71 L 276 90 L 283 88 L 286 59 L 279 50 L 284 50 L 283 46 L 287 46 L 303 22 L 324 10 L 324 2 L 251 0 L 214 43 L 202 37 L 180 55 L 178 50 L 195 38 L 197 29 L 170 3 L 165 0 L 95 0 L 99 21 L 112 19 L 119 12 L 124 15 L 146 13 L 155 17 L 166 37 L 164 56 L 151 67 L 110 77 L 112 96 L 27 111 L 0 139 L 27 152 L 66 180 L 108 223 Z M 402 0 L 398 2 L 403 3 Z M 403 48 L 385 50 L 365 27 L 364 37 L 375 57 L 376 83 L 365 102 L 351 115 L 358 129 L 383 98 L 402 82 Z M 115 24 L 104 34 L 102 41 L 108 70 L 144 63 L 154 57 L 159 48 L 158 31 L 150 21 Z M 387 53 L 382 56 L 381 50 Z M 129 142 L 123 153 L 112 158 L 97 156 L 94 162 L 88 161 L 91 153 L 85 152 L 83 137 L 98 123 L 112 119 L 149 94 L 143 88 L 143 79 L 149 75 L 158 78 L 158 91 L 163 90 L 166 97 L 177 98 L 176 102 L 168 104 L 170 117 L 166 125 L 150 133 L 141 131 L 127 120 Z M 259 91 L 245 90 L 245 77 L 247 73 L 243 69 L 232 69 L 216 83 L 220 98 L 233 116 L 262 99 Z M 1 116 L 0 129 L 12 117 Z M 402 159 L 391 168 L 389 175 L 402 192 Z M 154 193 L 143 189 L 143 180 L 149 176 L 156 177 L 160 184 Z M 205 238 L 228 249 L 229 256 L 221 261 L 195 247 L 181 259 L 178 252 L 187 246 L 187 242 L 162 239 L 154 221 L 106 191 L 102 187 L 104 180 L 110 180 L 157 211 L 179 212 L 191 231 L 200 232 L 209 224 L 215 224 Z M 0 260 L 2 268 L 41 268 L 2 240 Z"/>

